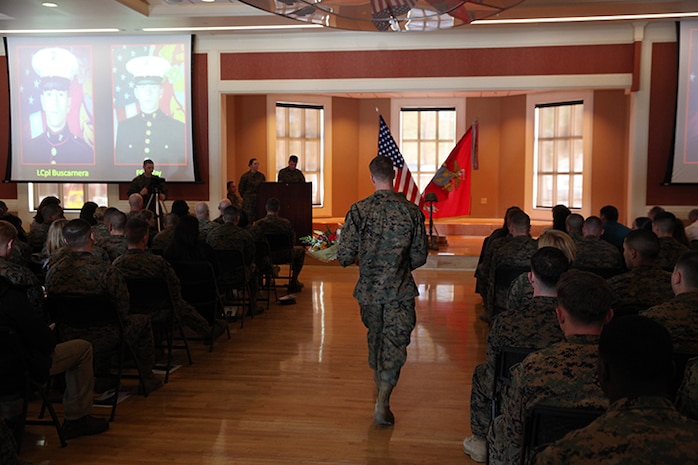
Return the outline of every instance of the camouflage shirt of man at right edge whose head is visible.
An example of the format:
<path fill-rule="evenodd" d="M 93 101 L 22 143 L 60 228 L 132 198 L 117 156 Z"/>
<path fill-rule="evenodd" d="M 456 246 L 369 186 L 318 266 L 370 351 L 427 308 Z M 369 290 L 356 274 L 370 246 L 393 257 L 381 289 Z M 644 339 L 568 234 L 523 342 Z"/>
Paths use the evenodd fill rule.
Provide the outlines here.
<path fill-rule="evenodd" d="M 684 292 L 640 314 L 669 331 L 674 352 L 698 354 L 698 292 Z"/>

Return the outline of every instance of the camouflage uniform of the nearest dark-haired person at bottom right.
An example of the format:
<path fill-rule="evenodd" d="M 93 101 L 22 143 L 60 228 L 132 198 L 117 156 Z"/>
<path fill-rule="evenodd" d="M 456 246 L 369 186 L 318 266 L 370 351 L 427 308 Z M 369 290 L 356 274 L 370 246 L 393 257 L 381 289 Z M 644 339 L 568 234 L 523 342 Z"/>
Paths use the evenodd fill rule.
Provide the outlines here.
<path fill-rule="evenodd" d="M 619 399 L 589 426 L 536 455 L 534 463 L 655 465 L 698 463 L 698 422 L 664 397 Z"/>

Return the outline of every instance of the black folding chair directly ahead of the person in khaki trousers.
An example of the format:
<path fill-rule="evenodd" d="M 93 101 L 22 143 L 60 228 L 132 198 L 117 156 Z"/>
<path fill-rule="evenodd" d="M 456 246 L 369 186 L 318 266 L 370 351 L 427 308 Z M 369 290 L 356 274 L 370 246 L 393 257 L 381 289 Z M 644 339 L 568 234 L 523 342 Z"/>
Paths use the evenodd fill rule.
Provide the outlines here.
<path fill-rule="evenodd" d="M 112 409 L 109 421 L 114 421 L 116 416 L 116 406 L 119 400 L 122 378 L 137 378 L 143 388 L 144 395 L 148 396 L 149 393 L 145 390 L 143 374 L 138 364 L 136 364 L 138 375 L 131 376 L 123 372 L 124 354 L 128 353 L 134 360 L 136 356 L 131 345 L 126 340 L 123 321 L 107 296 L 98 294 L 49 294 L 46 298 L 46 304 L 49 315 L 56 323 L 56 333 L 61 341 L 67 340 L 64 336 L 66 328 L 78 331 L 84 330 L 85 332 L 106 327 L 112 327 L 116 330 L 118 339 L 112 350 L 110 350 L 110 352 L 116 355 L 117 363 L 115 367 L 116 374 L 112 375 L 116 381 L 116 386 L 111 400 Z M 89 340 L 89 338 L 86 339 Z M 94 347 L 95 342 L 90 342 L 92 342 Z"/>

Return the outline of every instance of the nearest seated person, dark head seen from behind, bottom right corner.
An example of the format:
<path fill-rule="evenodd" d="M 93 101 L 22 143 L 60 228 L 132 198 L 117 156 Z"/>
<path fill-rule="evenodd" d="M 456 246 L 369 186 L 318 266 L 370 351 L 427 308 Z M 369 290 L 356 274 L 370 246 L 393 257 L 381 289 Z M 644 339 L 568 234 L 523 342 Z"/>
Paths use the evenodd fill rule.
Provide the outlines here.
<path fill-rule="evenodd" d="M 537 465 L 698 463 L 698 422 L 667 399 L 671 338 L 652 320 L 629 316 L 599 339 L 598 378 L 608 411 L 539 452 Z"/>

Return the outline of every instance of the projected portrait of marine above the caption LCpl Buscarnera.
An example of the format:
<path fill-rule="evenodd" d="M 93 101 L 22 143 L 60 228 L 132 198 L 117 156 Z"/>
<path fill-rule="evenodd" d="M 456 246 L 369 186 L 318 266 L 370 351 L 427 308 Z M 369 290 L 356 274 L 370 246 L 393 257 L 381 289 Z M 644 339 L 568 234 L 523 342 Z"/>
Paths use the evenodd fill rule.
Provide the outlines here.
<path fill-rule="evenodd" d="M 94 165 L 90 47 L 27 47 L 18 60 L 21 163 Z"/>

